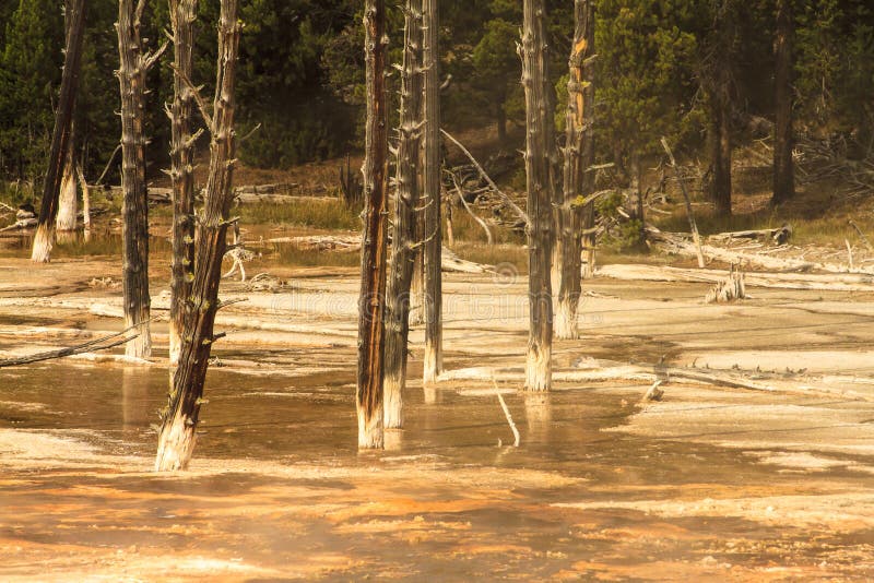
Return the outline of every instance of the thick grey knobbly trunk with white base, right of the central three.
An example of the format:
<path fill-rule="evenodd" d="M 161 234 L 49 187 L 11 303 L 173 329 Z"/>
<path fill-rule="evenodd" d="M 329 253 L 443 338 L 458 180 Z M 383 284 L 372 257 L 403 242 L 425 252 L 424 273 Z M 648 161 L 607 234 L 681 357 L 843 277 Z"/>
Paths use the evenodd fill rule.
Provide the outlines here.
<path fill-rule="evenodd" d="M 530 328 L 525 389 L 548 391 L 552 384 L 553 305 L 550 262 L 553 239 L 553 179 L 550 150 L 554 128 L 550 109 L 544 0 L 524 0 L 522 85 L 525 93 L 525 174 Z"/>

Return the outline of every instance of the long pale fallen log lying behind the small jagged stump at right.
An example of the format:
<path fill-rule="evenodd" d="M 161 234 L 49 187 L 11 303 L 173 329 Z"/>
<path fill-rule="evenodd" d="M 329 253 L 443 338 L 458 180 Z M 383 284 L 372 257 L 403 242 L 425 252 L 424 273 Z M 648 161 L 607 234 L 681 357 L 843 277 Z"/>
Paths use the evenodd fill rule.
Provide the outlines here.
<path fill-rule="evenodd" d="M 725 270 L 687 270 L 658 265 L 603 265 L 597 276 L 628 282 L 719 283 Z M 746 272 L 749 287 L 777 289 L 815 289 L 820 291 L 874 291 L 874 275 Z"/>

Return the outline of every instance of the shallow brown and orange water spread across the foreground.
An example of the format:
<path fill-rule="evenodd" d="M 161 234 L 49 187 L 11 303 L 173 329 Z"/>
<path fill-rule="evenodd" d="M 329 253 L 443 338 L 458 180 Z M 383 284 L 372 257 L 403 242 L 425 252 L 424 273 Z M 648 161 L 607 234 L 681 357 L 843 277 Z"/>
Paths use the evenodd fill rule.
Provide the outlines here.
<path fill-rule="evenodd" d="M 389 435 L 387 451 L 359 454 L 352 373 L 290 380 L 212 369 L 192 472 L 161 476 L 147 473 L 150 425 L 166 391 L 161 367 L 0 370 L 0 449 L 14 429 L 24 450 L 13 447 L 0 479 L 0 548 L 8 549 L 0 558 L 10 559 L 0 573 L 761 580 L 777 566 L 787 579 L 874 573 L 874 555 L 864 558 L 874 551 L 871 523 L 817 527 L 744 510 L 777 500 L 764 503 L 791 516 L 794 502 L 779 505 L 788 497 L 813 511 L 823 495 L 864 491 L 870 475 L 780 474 L 743 451 L 604 432 L 628 423 L 638 411 L 628 402 L 646 386 L 509 393 L 518 449 L 506 447 L 512 437 L 494 394 L 414 386 L 408 429 Z M 34 442 L 24 463 L 28 436 L 56 440 L 48 443 L 56 449 Z M 714 500 L 730 508 L 701 515 L 683 507 Z M 636 508 L 676 501 L 681 510 Z M 3 557 L 15 548 L 25 554 Z M 160 559 L 167 555 L 175 560 Z"/>

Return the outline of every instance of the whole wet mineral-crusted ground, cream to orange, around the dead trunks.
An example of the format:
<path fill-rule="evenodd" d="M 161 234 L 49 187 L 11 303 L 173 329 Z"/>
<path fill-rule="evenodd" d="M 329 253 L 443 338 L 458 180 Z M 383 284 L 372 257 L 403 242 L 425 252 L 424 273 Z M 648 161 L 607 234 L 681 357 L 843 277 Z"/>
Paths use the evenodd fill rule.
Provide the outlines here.
<path fill-rule="evenodd" d="M 88 285 L 115 263 L 2 267 L 3 356 L 120 329 L 120 291 Z M 249 301 L 220 317 L 190 472 L 151 472 L 163 323 L 151 366 L 0 369 L 0 580 L 874 578 L 871 295 L 754 289 L 704 306 L 704 285 L 592 282 L 557 371 L 664 358 L 793 369 L 781 386 L 798 389 L 673 381 L 641 404 L 649 382 L 519 392 L 524 282 L 448 276 L 447 367 L 505 371 L 520 447 L 491 379 L 423 389 L 415 328 L 406 429 L 359 454 L 356 282 L 288 273 L 279 294 L 225 286 Z"/>

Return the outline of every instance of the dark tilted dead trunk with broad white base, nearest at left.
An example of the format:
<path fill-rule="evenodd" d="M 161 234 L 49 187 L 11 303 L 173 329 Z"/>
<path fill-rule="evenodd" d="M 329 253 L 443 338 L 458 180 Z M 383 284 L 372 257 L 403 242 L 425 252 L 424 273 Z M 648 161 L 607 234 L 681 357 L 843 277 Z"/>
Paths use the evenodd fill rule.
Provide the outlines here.
<path fill-rule="evenodd" d="M 210 171 L 205 209 L 194 258 L 190 305 L 185 309 L 182 347 L 174 374 L 173 391 L 162 414 L 155 471 L 185 469 L 194 449 L 203 383 L 218 311 L 222 260 L 227 250 L 227 228 L 234 201 L 234 107 L 240 24 L 239 0 L 222 0 L 218 22 L 218 59 L 212 116 L 201 107 L 210 130 Z M 191 88 L 191 87 L 189 87 Z M 199 104 L 202 104 L 198 99 Z"/>

